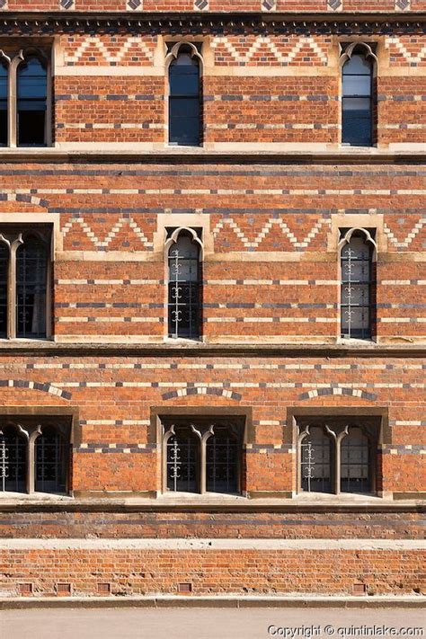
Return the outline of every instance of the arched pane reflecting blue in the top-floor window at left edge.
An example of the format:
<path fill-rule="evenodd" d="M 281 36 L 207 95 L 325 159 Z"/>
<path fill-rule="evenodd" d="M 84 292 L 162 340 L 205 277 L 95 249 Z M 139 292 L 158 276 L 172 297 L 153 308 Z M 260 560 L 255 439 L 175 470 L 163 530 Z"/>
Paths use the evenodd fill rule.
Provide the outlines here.
<path fill-rule="evenodd" d="M 18 146 L 45 146 L 47 71 L 39 58 L 18 67 Z"/>

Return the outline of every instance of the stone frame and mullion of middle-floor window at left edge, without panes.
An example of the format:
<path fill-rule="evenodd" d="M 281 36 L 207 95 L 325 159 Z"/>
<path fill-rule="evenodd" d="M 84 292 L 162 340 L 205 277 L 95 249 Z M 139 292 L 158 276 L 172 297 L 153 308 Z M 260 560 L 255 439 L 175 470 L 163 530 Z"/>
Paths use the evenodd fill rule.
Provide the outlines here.
<path fill-rule="evenodd" d="M 2 223 L 0 224 L 0 243 L 9 250 L 7 262 L 7 289 L 6 289 L 6 340 L 50 340 L 52 338 L 52 246 L 54 229 L 51 224 L 22 225 Z M 46 243 L 46 335 L 45 337 L 31 338 L 17 336 L 17 251 L 24 244 L 24 235 L 38 235 Z"/>

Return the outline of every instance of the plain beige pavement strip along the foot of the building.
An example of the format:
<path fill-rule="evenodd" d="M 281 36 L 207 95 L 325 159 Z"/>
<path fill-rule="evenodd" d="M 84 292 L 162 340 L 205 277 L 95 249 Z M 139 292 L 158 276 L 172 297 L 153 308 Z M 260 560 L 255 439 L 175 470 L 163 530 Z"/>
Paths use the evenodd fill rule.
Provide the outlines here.
<path fill-rule="evenodd" d="M 371 630 L 364 627 L 364 632 L 359 633 L 359 626 L 368 626 Z M 402 633 L 401 627 L 404 628 Z M 392 634 L 390 628 L 395 628 L 396 633 Z M 355 636 L 426 638 L 426 611 L 395 608 L 45 608 L 0 611 L 1 639 L 269 639 L 274 636 L 286 639 L 316 636 L 334 636 L 335 639 Z"/>

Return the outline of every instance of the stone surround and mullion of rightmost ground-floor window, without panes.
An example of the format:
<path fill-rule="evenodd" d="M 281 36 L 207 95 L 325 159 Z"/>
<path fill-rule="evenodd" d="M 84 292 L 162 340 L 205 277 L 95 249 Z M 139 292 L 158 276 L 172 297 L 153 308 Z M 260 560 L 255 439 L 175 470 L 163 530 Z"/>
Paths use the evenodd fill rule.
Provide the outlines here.
<path fill-rule="evenodd" d="M 351 422 L 361 422 L 362 418 L 368 418 L 371 422 L 377 422 L 377 451 L 384 445 L 391 443 L 391 430 L 388 421 L 387 408 L 382 407 L 364 407 L 364 406 L 309 406 L 309 407 L 292 407 L 287 411 L 287 426 L 285 427 L 284 439 L 291 438 L 293 445 L 296 449 L 296 484 L 294 496 L 303 494 L 311 499 L 317 499 L 318 493 L 310 493 L 307 495 L 301 488 L 301 442 L 303 439 L 303 433 L 299 434 L 298 427 L 300 422 L 306 422 L 309 418 L 315 419 L 315 425 L 318 425 L 320 421 L 333 420 L 342 422 L 348 419 Z M 341 493 L 340 490 L 340 444 L 342 438 L 336 437 L 335 441 L 335 456 L 334 464 L 336 466 L 336 472 L 334 473 L 334 496 L 338 498 L 344 494 L 347 499 L 351 499 L 352 495 L 347 493 Z M 332 462 L 333 463 L 333 462 Z M 339 470 L 337 468 L 339 467 Z M 373 496 L 387 497 L 383 490 L 377 490 L 377 464 L 373 468 Z M 357 495 L 353 495 L 355 498 Z M 371 494 L 367 495 L 371 496 Z M 358 495 L 359 498 L 359 495 Z"/>

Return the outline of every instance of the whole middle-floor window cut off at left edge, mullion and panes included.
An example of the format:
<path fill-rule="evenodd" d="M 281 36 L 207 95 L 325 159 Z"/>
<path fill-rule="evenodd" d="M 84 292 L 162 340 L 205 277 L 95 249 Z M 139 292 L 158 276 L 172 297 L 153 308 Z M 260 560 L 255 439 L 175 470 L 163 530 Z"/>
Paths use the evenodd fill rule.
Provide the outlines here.
<path fill-rule="evenodd" d="M 0 336 L 50 337 L 49 225 L 0 226 Z"/>

